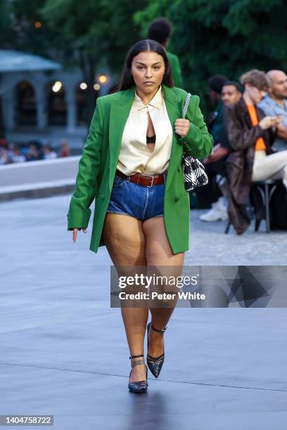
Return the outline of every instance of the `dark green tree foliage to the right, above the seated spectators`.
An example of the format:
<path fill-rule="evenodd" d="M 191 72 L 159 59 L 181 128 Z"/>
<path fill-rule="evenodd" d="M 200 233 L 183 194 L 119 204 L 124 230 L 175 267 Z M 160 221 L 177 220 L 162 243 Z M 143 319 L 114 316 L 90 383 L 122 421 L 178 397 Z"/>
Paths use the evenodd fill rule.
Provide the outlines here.
<path fill-rule="evenodd" d="M 172 21 L 170 51 L 180 60 L 186 89 L 203 96 L 206 79 L 226 74 L 238 79 L 251 68 L 287 68 L 284 0 L 148 0 L 135 15 L 142 37 L 148 22 Z"/>

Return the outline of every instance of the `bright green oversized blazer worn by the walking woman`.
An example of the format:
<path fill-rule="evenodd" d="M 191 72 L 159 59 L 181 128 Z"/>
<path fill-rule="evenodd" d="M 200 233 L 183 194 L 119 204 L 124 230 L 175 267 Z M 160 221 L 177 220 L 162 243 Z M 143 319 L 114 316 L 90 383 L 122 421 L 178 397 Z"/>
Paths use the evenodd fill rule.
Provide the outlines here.
<path fill-rule="evenodd" d="M 199 97 L 192 96 L 186 119 L 191 121 L 187 136 L 180 138 L 174 132 L 174 122 L 181 118 L 186 91 L 162 84 L 167 113 L 173 129 L 172 150 L 167 171 L 164 197 L 164 222 L 173 254 L 189 249 L 189 193 L 184 188 L 181 167 L 183 148 L 193 157 L 210 155 L 212 136 L 208 133 L 203 115 L 198 107 Z M 104 244 L 101 235 L 103 221 L 113 188 L 122 133 L 134 100 L 135 86 L 99 97 L 96 103 L 89 136 L 79 159 L 75 192 L 70 200 L 68 230 L 87 228 L 91 216 L 91 203 L 96 199 L 90 248 L 98 252 Z M 155 185 L 156 186 L 156 185 Z"/>

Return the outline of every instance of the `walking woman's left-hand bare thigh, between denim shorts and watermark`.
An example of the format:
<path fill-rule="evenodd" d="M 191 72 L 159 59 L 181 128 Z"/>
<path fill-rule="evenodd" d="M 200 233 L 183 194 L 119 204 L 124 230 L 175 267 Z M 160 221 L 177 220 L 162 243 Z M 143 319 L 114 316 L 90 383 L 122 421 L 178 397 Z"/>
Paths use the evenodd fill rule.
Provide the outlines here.
<path fill-rule="evenodd" d="M 146 239 L 141 220 L 108 212 L 103 224 L 103 240 L 115 266 L 146 265 Z"/>

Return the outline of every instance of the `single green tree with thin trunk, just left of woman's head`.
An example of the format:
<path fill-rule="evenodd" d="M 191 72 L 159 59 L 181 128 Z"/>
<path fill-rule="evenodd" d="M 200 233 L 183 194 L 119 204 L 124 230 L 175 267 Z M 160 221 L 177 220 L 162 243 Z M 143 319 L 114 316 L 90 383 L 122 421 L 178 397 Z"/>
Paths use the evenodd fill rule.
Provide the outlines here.
<path fill-rule="evenodd" d="M 132 22 L 135 11 L 146 0 L 47 0 L 42 8 L 49 27 L 58 34 L 58 47 L 67 63 L 78 63 L 88 84 L 89 112 L 94 110 L 94 76 L 105 64 L 115 74 L 122 68 L 125 53 L 139 39 Z"/>

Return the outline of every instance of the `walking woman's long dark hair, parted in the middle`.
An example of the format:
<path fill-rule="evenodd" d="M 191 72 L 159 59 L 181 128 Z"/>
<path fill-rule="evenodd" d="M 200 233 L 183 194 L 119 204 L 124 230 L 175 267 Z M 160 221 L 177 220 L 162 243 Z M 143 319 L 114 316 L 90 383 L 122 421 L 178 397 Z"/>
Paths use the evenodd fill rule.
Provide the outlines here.
<path fill-rule="evenodd" d="M 170 66 L 170 61 L 167 58 L 167 54 L 165 49 L 161 44 L 159 44 L 155 40 L 140 40 L 136 42 L 131 48 L 129 48 L 129 52 L 127 53 L 127 57 L 125 59 L 125 64 L 122 69 L 122 76 L 120 77 L 119 91 L 129 89 L 131 86 L 134 86 L 134 78 L 131 74 L 132 69 L 132 59 L 136 57 L 140 52 L 144 51 L 153 51 L 162 56 L 165 61 L 165 74 L 163 75 L 162 82 L 167 86 L 174 86 L 174 82 L 172 79 L 172 67 Z"/>

